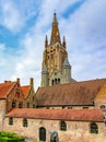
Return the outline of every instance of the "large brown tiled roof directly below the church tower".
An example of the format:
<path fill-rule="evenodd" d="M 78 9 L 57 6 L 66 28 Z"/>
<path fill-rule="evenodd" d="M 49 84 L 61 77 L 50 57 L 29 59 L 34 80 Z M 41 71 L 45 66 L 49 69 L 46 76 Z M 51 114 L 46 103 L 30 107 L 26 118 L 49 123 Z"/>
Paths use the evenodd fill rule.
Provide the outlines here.
<path fill-rule="evenodd" d="M 36 92 L 38 106 L 93 105 L 106 79 L 39 87 Z"/>

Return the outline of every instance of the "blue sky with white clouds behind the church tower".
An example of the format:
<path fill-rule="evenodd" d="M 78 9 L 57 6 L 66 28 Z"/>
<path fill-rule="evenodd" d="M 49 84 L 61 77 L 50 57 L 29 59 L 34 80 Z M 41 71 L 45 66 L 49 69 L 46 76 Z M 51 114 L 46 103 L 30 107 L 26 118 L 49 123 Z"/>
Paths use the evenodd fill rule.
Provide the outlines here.
<path fill-rule="evenodd" d="M 105 0 L 0 0 L 0 82 L 21 79 L 40 85 L 45 35 L 50 39 L 54 12 L 67 39 L 72 76 L 106 78 Z"/>

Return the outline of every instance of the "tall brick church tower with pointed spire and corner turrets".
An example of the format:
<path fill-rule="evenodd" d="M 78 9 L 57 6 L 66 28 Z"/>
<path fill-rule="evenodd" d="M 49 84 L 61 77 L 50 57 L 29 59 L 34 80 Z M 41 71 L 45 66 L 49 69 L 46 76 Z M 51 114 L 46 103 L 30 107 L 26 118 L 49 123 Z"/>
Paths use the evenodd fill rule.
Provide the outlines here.
<path fill-rule="evenodd" d="M 71 66 L 68 61 L 67 44 L 62 43 L 58 28 L 57 15 L 54 13 L 50 42 L 45 38 L 45 50 L 42 63 L 42 86 L 51 86 L 74 82 L 71 78 Z"/>

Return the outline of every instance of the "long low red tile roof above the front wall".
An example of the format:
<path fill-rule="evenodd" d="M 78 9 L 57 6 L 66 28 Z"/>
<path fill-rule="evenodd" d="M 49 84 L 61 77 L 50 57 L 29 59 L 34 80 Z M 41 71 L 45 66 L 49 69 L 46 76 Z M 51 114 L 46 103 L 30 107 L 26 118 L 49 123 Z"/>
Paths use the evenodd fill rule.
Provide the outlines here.
<path fill-rule="evenodd" d="M 14 108 L 7 115 L 7 117 L 72 121 L 103 121 L 103 113 L 101 109 Z"/>

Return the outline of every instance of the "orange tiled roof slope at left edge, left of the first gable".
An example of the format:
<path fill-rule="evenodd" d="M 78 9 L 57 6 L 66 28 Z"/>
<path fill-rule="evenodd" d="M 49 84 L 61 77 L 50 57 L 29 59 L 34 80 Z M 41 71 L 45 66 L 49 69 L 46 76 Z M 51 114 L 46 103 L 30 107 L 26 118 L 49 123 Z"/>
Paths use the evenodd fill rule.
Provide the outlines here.
<path fill-rule="evenodd" d="M 16 82 L 0 83 L 0 98 L 7 98 Z"/>

